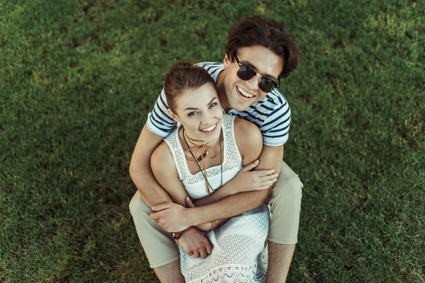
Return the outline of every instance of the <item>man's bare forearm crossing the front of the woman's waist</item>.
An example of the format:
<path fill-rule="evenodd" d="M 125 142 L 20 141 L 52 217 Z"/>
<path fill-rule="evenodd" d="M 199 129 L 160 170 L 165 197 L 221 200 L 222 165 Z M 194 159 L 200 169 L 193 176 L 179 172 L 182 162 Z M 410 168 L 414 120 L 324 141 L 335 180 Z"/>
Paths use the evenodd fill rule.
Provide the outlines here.
<path fill-rule="evenodd" d="M 208 204 L 204 207 L 188 209 L 188 218 L 191 219 L 191 225 L 196 226 L 249 212 L 249 210 L 259 207 L 266 202 L 269 192 L 271 192 L 271 189 L 240 192 L 239 194 L 226 197 L 224 200 L 220 200 L 220 202 Z"/>

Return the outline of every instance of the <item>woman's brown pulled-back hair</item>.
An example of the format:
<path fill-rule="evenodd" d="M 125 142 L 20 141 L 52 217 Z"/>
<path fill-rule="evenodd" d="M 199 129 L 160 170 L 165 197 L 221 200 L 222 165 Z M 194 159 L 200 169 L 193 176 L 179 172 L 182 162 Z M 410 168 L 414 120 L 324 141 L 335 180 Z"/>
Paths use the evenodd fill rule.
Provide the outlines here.
<path fill-rule="evenodd" d="M 164 77 L 166 102 L 169 109 L 174 113 L 176 112 L 176 100 L 186 89 L 200 88 L 205 83 L 210 83 L 217 91 L 215 81 L 208 71 L 189 62 L 172 64 Z"/>

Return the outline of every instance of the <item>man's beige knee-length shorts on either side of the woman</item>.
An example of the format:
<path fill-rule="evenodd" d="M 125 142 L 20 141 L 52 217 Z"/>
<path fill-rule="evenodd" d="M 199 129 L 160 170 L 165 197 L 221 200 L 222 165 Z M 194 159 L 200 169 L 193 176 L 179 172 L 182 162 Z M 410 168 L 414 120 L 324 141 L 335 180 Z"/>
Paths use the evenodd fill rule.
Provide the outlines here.
<path fill-rule="evenodd" d="M 268 241 L 273 243 L 297 243 L 302 183 L 298 175 L 282 162 L 282 168 L 268 204 L 271 207 Z M 147 255 L 150 267 L 160 267 L 180 258 L 179 249 L 171 233 L 149 219 L 151 209 L 136 192 L 130 202 L 130 212 L 135 221 L 137 235 Z"/>

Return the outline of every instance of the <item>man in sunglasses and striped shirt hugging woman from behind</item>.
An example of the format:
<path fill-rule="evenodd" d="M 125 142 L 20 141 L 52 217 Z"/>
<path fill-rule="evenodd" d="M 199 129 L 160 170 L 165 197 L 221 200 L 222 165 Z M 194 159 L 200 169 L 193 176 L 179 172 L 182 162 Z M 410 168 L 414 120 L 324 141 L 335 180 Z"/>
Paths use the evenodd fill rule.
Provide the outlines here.
<path fill-rule="evenodd" d="M 283 144 L 288 141 L 290 108 L 276 87 L 280 78 L 296 69 L 297 50 L 279 23 L 260 17 L 247 18 L 230 30 L 223 64 L 199 65 L 216 81 L 225 112 L 253 122 L 263 134 L 259 163 L 246 166 L 240 173 L 242 178 L 236 177 L 229 183 L 237 186 L 241 179 L 255 180 L 261 174 L 268 175 L 269 169 L 280 173 L 278 181 L 268 190 L 241 192 L 204 207 L 188 209 L 173 204 L 150 168 L 152 152 L 174 127 L 162 93 L 149 113 L 130 163 L 130 175 L 138 188 L 130 202 L 130 212 L 138 236 L 160 281 L 184 282 L 179 250 L 168 232 L 247 212 L 259 207 L 271 192 L 267 282 L 285 282 L 297 243 L 302 183 L 282 162 Z M 179 244 L 188 255 L 195 257 L 205 258 L 212 249 L 197 229 L 184 233 Z"/>

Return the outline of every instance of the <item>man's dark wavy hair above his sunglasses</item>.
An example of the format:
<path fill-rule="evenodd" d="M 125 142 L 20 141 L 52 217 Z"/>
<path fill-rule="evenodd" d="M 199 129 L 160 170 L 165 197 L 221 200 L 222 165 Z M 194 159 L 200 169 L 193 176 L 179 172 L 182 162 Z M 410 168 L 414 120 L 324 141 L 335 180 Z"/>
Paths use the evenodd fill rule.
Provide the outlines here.
<path fill-rule="evenodd" d="M 254 45 L 266 47 L 283 58 L 283 69 L 279 74 L 281 78 L 286 78 L 297 69 L 297 47 L 290 36 L 283 32 L 283 23 L 259 16 L 242 19 L 229 31 L 225 53 L 233 62 L 239 48 Z"/>

